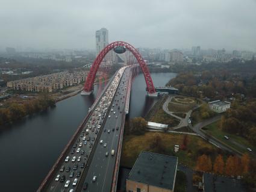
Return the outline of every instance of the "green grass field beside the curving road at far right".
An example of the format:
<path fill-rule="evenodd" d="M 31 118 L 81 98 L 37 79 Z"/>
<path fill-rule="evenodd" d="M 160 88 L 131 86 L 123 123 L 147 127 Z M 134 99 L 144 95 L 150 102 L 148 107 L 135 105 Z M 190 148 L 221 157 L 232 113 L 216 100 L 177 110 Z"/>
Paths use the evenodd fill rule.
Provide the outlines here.
<path fill-rule="evenodd" d="M 206 126 L 203 128 L 205 132 L 212 135 L 213 137 L 217 138 L 218 140 L 222 141 L 225 144 L 228 144 L 229 146 L 233 147 L 234 149 L 238 150 L 239 152 L 245 153 L 248 152 L 245 148 L 239 146 L 239 144 L 242 144 L 246 147 L 250 147 L 252 150 L 256 150 L 255 146 L 252 146 L 252 144 L 249 143 L 246 138 L 240 137 L 238 135 L 229 134 L 225 131 L 222 131 L 219 126 L 219 121 L 215 122 L 211 125 Z M 224 136 L 227 135 L 229 137 L 229 140 L 226 140 Z M 233 142 L 235 141 L 235 142 Z M 236 144 L 238 143 L 238 144 Z"/>

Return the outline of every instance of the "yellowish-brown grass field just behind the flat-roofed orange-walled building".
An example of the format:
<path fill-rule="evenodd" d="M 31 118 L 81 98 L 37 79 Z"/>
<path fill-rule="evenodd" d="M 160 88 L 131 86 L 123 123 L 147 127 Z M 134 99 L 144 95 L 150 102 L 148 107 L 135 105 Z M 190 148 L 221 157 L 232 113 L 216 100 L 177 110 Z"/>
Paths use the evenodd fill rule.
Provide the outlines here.
<path fill-rule="evenodd" d="M 200 137 L 193 135 L 187 135 L 188 143 L 187 150 L 180 150 L 177 153 L 173 152 L 175 144 L 183 144 L 184 135 L 171 134 L 171 133 L 155 133 L 146 132 L 145 135 L 127 135 L 123 140 L 123 149 L 121 155 L 121 166 L 133 167 L 139 153 L 142 150 L 152 151 L 156 153 L 161 153 L 149 148 L 149 144 L 152 141 L 154 134 L 160 134 L 164 146 L 166 155 L 178 156 L 178 161 L 189 167 L 194 168 L 196 165 L 196 159 L 198 158 L 198 150 L 207 147 L 208 149 L 217 149 L 215 146 L 207 143 Z"/>

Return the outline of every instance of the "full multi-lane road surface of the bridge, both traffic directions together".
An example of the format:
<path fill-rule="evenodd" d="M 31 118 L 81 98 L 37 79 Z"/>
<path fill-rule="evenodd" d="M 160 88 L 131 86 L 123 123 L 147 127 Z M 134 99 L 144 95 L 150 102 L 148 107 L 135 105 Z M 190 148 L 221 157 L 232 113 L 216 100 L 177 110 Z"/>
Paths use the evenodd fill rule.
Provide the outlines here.
<path fill-rule="evenodd" d="M 116 73 L 39 191 L 111 190 L 130 73 L 125 69 Z"/>

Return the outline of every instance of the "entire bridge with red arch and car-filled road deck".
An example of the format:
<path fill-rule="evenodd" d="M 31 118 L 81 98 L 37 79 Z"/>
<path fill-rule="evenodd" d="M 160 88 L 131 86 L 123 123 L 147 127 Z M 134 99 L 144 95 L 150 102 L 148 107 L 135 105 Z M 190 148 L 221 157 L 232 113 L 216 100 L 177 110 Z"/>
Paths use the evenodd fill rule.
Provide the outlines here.
<path fill-rule="evenodd" d="M 138 67 L 145 77 L 148 96 L 157 96 L 145 61 L 126 42 L 110 43 L 99 53 L 81 94 L 92 93 L 101 61 L 118 47 L 128 49 L 139 64 L 124 66 L 113 75 L 37 191 L 116 191 L 131 82 Z"/>

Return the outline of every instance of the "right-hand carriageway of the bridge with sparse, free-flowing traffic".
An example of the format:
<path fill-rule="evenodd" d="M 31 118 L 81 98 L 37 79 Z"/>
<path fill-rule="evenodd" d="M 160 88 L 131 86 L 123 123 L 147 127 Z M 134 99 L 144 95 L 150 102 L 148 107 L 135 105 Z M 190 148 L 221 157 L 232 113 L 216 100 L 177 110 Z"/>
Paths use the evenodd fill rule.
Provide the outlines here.
<path fill-rule="evenodd" d="M 117 93 L 114 96 L 111 110 L 108 114 L 110 118 L 106 120 L 104 131 L 99 138 L 99 140 L 103 142 L 96 146 L 95 155 L 93 155 L 92 163 L 90 164 L 84 180 L 84 183 L 87 183 L 88 186 L 86 191 L 109 192 L 111 190 L 114 166 L 116 163 L 116 152 L 120 137 L 120 127 L 122 121 L 125 120 L 123 119 L 123 113 L 125 113 L 126 85 L 129 79 L 129 72 L 130 70 L 125 70 Z M 104 147 L 105 143 L 107 144 L 106 147 Z M 111 155 L 111 150 L 114 150 L 114 155 Z M 106 156 L 106 152 L 108 152 L 108 156 Z M 93 176 L 96 176 L 95 182 L 93 182 Z"/>

